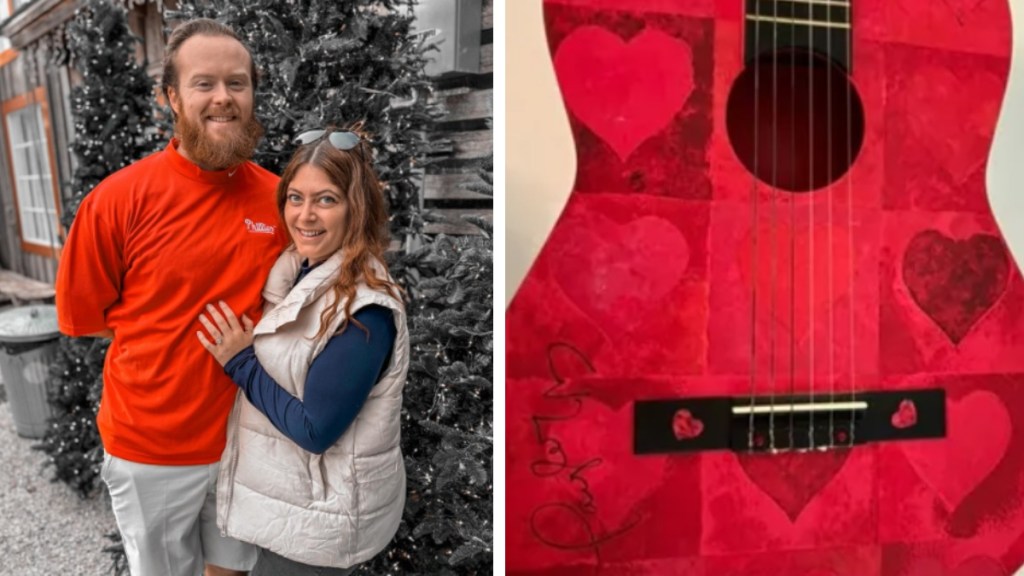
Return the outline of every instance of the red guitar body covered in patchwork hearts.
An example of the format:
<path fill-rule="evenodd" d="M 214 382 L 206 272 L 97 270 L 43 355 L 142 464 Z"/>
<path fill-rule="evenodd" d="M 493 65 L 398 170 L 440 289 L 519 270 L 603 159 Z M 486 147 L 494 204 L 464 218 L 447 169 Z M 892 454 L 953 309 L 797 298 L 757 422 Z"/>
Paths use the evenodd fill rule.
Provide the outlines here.
<path fill-rule="evenodd" d="M 757 59 L 777 74 L 753 98 L 743 2 L 545 2 L 578 168 L 506 317 L 509 574 L 1024 565 L 1011 2 L 854 0 L 847 91 L 783 50 Z M 808 83 L 842 95 L 816 100 L 842 111 L 824 130 L 800 119 Z M 941 438 L 637 450 L 645 401 L 924 388 L 944 395 Z M 654 434 L 714 426 L 679 411 Z"/>

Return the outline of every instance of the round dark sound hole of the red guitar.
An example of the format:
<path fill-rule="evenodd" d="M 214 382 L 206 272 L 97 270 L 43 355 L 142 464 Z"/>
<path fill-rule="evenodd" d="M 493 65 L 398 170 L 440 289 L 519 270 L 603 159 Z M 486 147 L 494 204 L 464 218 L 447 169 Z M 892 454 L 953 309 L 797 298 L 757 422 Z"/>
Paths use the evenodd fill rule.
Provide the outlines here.
<path fill-rule="evenodd" d="M 755 72 L 756 71 L 756 72 Z M 846 73 L 807 52 L 750 64 L 729 93 L 732 149 L 758 179 L 788 192 L 828 186 L 864 140 L 864 109 Z"/>

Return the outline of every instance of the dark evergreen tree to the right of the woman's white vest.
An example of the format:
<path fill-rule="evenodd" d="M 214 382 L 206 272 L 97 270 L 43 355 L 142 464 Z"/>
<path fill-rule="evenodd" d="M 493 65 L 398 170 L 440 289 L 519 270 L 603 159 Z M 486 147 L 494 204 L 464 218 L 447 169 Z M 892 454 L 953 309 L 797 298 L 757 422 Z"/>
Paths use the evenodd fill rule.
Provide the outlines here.
<path fill-rule="evenodd" d="M 477 193 L 492 195 L 492 164 Z M 391 270 L 410 291 L 413 346 L 402 451 L 404 522 L 367 574 L 490 574 L 494 541 L 494 245 L 479 236 L 425 239 Z"/>

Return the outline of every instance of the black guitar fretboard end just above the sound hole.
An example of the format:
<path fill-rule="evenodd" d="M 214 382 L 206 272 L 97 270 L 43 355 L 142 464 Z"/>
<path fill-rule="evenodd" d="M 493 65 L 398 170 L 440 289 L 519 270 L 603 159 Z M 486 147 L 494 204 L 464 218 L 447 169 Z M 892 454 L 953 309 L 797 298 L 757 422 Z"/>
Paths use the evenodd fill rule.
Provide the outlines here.
<path fill-rule="evenodd" d="M 851 71 L 852 0 L 746 0 L 744 53 L 811 51 Z"/>

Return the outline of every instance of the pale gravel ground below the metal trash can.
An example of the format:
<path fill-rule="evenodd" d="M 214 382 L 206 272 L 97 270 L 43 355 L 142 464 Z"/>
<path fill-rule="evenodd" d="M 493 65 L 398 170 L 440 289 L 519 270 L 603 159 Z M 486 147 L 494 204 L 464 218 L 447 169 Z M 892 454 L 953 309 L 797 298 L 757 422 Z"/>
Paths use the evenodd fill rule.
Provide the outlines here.
<path fill-rule="evenodd" d="M 109 498 L 82 500 L 50 482 L 36 442 L 15 434 L 9 404 L 0 402 L 0 575 L 112 574 L 102 551 L 115 530 Z"/>

